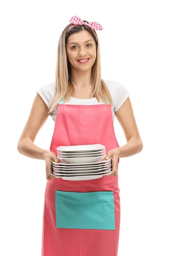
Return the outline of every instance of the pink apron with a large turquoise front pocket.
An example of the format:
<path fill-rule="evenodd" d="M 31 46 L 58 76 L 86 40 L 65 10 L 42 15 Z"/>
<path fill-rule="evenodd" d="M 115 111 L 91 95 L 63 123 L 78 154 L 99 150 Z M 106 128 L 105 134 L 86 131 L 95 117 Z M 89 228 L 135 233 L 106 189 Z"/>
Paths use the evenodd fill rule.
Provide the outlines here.
<path fill-rule="evenodd" d="M 63 101 L 61 101 L 63 102 Z M 119 147 L 111 104 L 59 102 L 50 151 L 61 145 Z M 118 159 L 119 163 L 119 159 Z M 95 180 L 47 180 L 42 256 L 117 256 L 120 227 L 119 176 Z"/>

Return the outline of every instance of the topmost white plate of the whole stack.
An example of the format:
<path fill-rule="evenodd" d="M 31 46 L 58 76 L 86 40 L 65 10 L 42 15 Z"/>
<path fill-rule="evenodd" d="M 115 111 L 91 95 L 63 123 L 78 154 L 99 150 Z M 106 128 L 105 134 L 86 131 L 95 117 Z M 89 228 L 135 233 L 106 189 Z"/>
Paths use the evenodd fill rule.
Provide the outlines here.
<path fill-rule="evenodd" d="M 96 151 L 96 150 L 102 150 L 105 149 L 104 145 L 101 144 L 92 144 L 92 145 L 73 145 L 73 146 L 59 146 L 56 148 L 59 151 L 62 152 L 68 152 L 68 153 L 76 153 L 76 152 L 85 152 L 85 151 Z"/>

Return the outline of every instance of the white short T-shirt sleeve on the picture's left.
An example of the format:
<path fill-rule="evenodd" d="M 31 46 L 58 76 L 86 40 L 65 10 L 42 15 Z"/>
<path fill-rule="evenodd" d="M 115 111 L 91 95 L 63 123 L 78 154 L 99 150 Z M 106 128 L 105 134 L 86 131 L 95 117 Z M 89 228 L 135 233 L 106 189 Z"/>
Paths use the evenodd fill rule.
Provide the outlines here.
<path fill-rule="evenodd" d="M 55 82 L 50 84 L 44 84 L 42 87 L 40 87 L 37 90 L 37 93 L 41 96 L 47 107 L 49 107 L 49 104 L 51 102 L 51 99 L 54 95 L 54 89 L 55 89 Z"/>

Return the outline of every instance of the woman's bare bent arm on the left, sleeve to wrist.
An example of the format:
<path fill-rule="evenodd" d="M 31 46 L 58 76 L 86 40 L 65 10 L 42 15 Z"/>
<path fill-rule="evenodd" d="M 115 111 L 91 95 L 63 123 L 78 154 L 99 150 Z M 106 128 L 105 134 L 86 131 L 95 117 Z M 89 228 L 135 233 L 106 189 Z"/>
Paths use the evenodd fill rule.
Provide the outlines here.
<path fill-rule="evenodd" d="M 34 159 L 45 159 L 45 153 L 49 151 L 37 147 L 34 144 L 34 140 L 37 136 L 38 131 L 40 131 L 40 128 L 42 127 L 42 125 L 44 125 L 45 121 L 49 116 L 47 111 L 47 105 L 45 104 L 41 96 L 37 93 L 31 107 L 30 115 L 17 144 L 17 150 L 20 154 Z"/>

